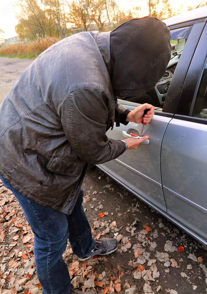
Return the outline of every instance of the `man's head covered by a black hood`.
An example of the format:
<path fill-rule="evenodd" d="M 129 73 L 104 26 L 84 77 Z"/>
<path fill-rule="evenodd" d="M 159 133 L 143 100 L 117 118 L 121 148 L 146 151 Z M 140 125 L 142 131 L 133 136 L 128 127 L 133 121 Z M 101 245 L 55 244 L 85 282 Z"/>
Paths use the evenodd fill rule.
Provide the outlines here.
<path fill-rule="evenodd" d="M 119 97 L 148 92 L 171 58 L 171 34 L 156 17 L 131 19 L 111 32 L 111 83 Z"/>

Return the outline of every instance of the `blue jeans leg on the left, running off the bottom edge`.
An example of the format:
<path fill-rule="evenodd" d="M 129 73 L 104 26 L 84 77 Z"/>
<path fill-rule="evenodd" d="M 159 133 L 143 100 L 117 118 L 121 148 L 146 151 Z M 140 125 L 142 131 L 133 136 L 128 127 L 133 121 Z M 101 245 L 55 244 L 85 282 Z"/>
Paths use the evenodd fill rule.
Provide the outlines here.
<path fill-rule="evenodd" d="M 69 235 L 66 215 L 35 203 L 4 179 L 1 181 L 11 188 L 34 233 L 34 259 L 42 293 L 69 294 L 71 280 L 62 258 Z"/>

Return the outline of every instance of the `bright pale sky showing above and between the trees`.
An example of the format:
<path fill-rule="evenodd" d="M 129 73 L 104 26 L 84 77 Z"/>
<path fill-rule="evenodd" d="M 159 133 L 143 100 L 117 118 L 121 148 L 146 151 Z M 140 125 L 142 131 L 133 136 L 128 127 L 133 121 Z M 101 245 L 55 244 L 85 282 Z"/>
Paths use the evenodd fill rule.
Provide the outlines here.
<path fill-rule="evenodd" d="M 0 29 L 4 31 L 4 38 L 8 39 L 16 36 L 14 26 L 17 24 L 17 20 L 15 18 L 16 7 L 15 4 L 18 0 L 1 0 L 0 1 Z M 131 0 L 116 0 L 117 4 L 119 4 L 124 9 L 130 9 L 133 6 L 133 1 Z M 137 4 L 142 1 L 137 1 Z M 170 0 L 171 7 L 176 9 L 181 4 L 183 4 L 184 8 L 188 6 L 198 5 L 201 0 Z M 139 17 L 143 17 L 147 15 L 147 10 L 142 11 L 139 14 Z"/>

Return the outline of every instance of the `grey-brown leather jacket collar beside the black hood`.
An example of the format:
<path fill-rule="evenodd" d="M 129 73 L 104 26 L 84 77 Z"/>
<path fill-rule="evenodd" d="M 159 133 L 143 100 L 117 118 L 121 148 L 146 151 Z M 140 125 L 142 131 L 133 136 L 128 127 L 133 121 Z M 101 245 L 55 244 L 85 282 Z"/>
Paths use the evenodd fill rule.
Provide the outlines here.
<path fill-rule="evenodd" d="M 98 33 L 96 36 L 96 44 L 104 59 L 109 76 L 111 75 L 110 36 L 111 31 Z"/>

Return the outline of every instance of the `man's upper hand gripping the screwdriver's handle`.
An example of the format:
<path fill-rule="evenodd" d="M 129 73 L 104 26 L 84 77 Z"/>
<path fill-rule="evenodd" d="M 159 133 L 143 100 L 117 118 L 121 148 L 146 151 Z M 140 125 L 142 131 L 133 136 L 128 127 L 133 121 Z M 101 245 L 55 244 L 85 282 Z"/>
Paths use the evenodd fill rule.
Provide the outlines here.
<path fill-rule="evenodd" d="M 145 109 L 150 110 L 143 117 Z M 143 121 L 143 123 L 148 123 L 153 118 L 154 109 L 154 106 L 152 106 L 151 104 L 144 103 L 141 106 L 138 106 L 134 110 L 130 111 L 127 115 L 126 121 L 131 121 L 134 123 L 141 123 Z"/>

